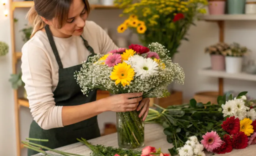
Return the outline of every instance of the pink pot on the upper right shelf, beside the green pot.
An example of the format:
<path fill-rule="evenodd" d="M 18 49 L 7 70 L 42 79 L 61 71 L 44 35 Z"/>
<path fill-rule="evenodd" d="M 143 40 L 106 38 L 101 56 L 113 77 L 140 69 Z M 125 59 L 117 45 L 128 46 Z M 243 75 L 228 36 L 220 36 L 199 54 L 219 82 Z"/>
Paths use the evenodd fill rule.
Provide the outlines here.
<path fill-rule="evenodd" d="M 209 12 L 210 15 L 222 15 L 225 14 L 226 1 L 209 1 Z"/>

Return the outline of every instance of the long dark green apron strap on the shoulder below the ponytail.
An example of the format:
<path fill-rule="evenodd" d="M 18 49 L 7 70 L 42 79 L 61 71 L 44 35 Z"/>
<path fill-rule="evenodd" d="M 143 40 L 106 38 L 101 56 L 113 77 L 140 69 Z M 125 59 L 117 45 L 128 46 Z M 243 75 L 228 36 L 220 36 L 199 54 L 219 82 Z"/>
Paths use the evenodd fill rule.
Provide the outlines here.
<path fill-rule="evenodd" d="M 53 50 L 53 53 L 55 55 L 55 58 L 57 60 L 57 63 L 59 65 L 59 68 L 62 69 L 63 68 L 63 65 L 61 63 L 61 60 L 60 60 L 60 57 L 59 57 L 59 53 L 58 53 L 58 50 L 56 48 L 56 45 L 55 45 L 55 42 L 54 42 L 54 39 L 53 39 L 53 34 L 49 28 L 49 25 L 46 25 L 45 26 L 45 31 L 46 31 L 46 34 L 47 34 L 47 37 L 48 37 L 48 40 L 50 42 L 50 45 L 52 47 L 52 50 Z"/>

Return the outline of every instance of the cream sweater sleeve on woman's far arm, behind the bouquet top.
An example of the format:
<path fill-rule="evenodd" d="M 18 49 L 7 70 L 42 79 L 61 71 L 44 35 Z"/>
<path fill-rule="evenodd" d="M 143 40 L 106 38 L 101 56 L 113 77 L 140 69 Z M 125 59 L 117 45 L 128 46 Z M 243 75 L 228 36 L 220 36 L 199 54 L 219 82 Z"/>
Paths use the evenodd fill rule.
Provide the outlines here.
<path fill-rule="evenodd" d="M 118 49 L 116 44 L 113 42 L 113 40 L 110 38 L 108 33 L 104 29 L 102 29 L 99 25 L 95 24 L 95 28 L 97 29 L 97 38 L 99 40 L 99 46 L 100 46 L 100 53 L 106 54 L 111 50 Z"/>

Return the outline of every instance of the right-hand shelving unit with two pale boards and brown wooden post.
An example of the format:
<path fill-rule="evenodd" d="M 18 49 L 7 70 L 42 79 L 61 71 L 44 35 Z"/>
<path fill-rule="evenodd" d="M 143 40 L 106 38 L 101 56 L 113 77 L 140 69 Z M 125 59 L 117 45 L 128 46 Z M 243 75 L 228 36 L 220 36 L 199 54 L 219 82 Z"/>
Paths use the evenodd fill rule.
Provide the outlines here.
<path fill-rule="evenodd" d="M 224 24 L 225 21 L 244 21 L 244 20 L 256 20 L 256 15 L 247 14 L 225 14 L 225 15 L 203 15 L 199 17 L 200 20 L 216 22 L 219 27 L 219 42 L 224 42 Z M 218 94 L 223 95 L 223 79 L 239 79 L 247 81 L 256 81 L 256 75 L 246 73 L 229 74 L 225 71 L 213 71 L 211 68 L 204 68 L 198 71 L 198 74 L 210 77 L 218 78 Z"/>

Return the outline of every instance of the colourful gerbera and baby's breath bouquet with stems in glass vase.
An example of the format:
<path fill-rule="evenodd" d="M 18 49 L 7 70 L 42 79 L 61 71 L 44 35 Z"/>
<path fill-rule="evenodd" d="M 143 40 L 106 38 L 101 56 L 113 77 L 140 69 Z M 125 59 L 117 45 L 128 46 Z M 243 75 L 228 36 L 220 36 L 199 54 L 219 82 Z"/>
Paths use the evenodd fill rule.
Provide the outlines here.
<path fill-rule="evenodd" d="M 167 52 L 159 43 L 114 49 L 88 58 L 75 78 L 84 94 L 100 89 L 111 94 L 142 92 L 143 98 L 166 97 L 168 84 L 183 84 L 185 78 L 182 67 L 172 63 Z M 144 123 L 138 115 L 139 111 L 117 113 L 119 146 L 134 149 L 144 145 Z"/>

